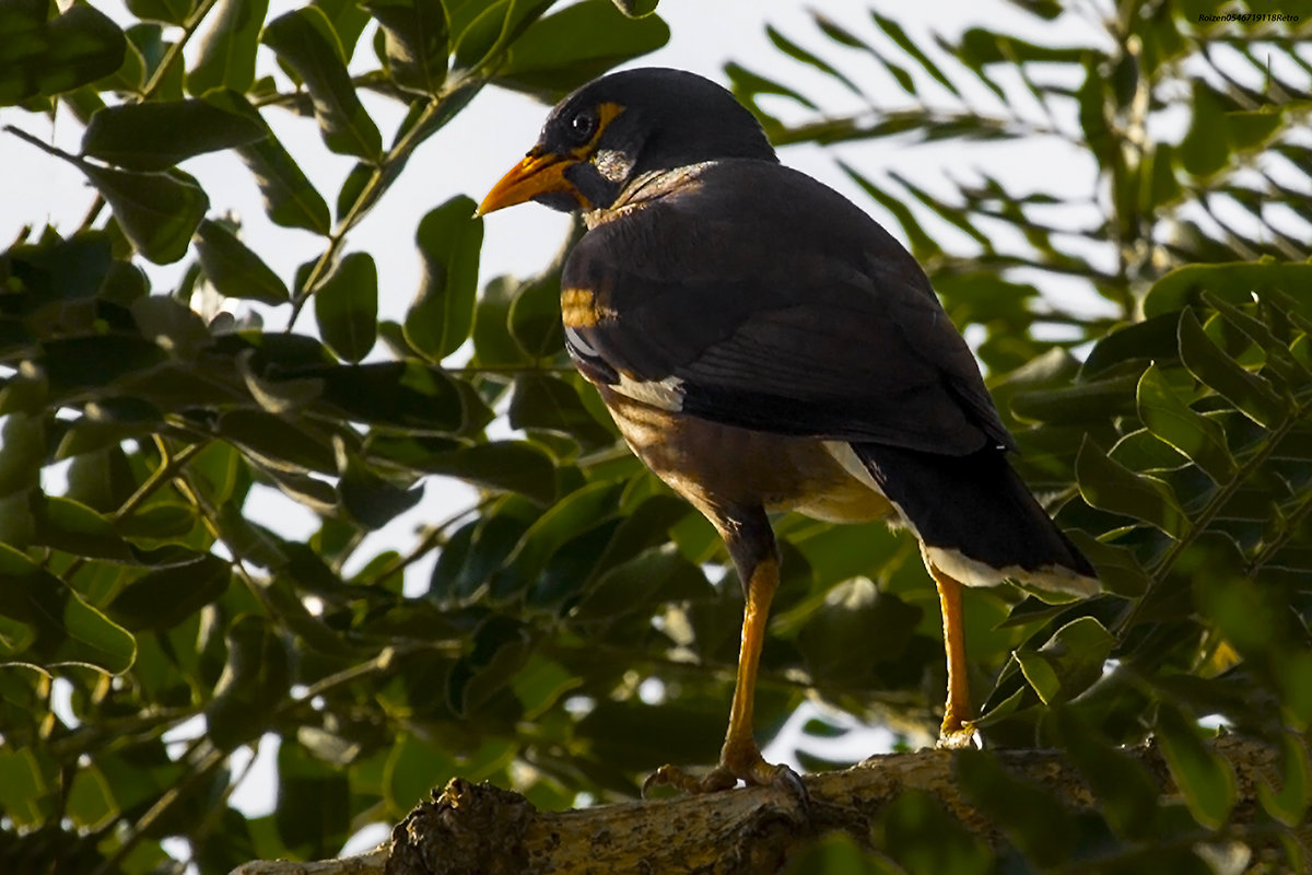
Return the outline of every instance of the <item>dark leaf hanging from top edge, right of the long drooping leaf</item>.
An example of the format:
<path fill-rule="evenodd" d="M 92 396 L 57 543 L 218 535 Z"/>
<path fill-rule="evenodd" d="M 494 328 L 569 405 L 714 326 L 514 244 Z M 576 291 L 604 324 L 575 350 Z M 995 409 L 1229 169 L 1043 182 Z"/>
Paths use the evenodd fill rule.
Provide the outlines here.
<path fill-rule="evenodd" d="M 392 80 L 407 91 L 437 96 L 449 54 L 441 0 L 366 0 L 359 5 L 383 29 Z"/>

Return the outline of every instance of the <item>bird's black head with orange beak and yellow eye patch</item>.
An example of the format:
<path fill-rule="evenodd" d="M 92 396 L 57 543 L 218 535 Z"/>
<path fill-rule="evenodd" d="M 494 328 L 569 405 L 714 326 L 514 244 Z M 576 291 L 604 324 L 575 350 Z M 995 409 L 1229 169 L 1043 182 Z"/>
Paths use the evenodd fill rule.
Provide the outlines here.
<path fill-rule="evenodd" d="M 627 70 L 556 104 L 479 214 L 530 199 L 564 211 L 605 209 L 644 173 L 728 157 L 778 160 L 728 91 L 682 70 Z"/>

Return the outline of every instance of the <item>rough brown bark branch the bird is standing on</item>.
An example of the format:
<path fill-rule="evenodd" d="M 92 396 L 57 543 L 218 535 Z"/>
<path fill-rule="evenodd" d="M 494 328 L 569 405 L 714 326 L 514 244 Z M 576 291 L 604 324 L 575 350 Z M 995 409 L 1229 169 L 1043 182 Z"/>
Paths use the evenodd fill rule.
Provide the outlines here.
<path fill-rule="evenodd" d="M 1278 753 L 1270 745 L 1223 736 L 1214 743 L 1235 770 L 1239 804 L 1231 824 L 1240 830 L 1263 817 L 1257 788 L 1278 787 Z M 1164 798 L 1178 798 L 1155 745 L 1128 750 L 1157 782 Z M 1017 778 L 1042 784 L 1072 811 L 1097 800 L 1076 770 L 1054 750 L 997 754 Z M 935 796 L 970 832 L 993 847 L 1006 836 L 987 811 L 960 794 L 949 750 L 871 757 L 845 771 L 806 775 L 810 803 L 771 787 L 598 805 L 537 811 L 520 794 L 454 778 L 392 830 L 390 845 L 363 857 L 320 863 L 253 862 L 234 875 L 743 875 L 775 872 L 817 836 L 844 830 L 869 844 L 871 824 L 899 794 Z M 1312 847 L 1308 821 L 1294 830 Z M 1253 855 L 1257 865 L 1258 855 Z M 1269 871 L 1269 870 L 1267 870 Z"/>

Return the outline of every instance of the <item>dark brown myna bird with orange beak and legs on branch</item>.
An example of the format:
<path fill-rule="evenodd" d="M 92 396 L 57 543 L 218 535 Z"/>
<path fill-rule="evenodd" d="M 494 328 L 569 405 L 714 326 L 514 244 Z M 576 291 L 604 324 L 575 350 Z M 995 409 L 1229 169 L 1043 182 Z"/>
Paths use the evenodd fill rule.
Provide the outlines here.
<path fill-rule="evenodd" d="M 613 72 L 562 100 L 478 215 L 529 201 L 583 215 L 560 277 L 565 348 L 634 454 L 716 529 L 745 597 L 719 762 L 663 766 L 644 792 L 799 783 L 752 724 L 782 510 L 918 540 L 943 623 L 939 743 L 974 743 L 962 586 L 1099 584 L 1013 470 L 1015 443 L 917 261 L 781 164 L 731 92 L 680 70 Z"/>

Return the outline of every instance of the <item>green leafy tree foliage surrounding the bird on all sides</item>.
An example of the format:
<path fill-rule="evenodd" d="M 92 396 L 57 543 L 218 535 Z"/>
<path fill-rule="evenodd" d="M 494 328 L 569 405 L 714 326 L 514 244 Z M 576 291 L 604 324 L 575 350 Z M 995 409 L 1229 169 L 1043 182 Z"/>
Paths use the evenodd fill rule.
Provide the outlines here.
<path fill-rule="evenodd" d="M 348 254 L 415 148 L 484 85 L 550 101 L 663 45 L 660 18 L 607 0 L 127 5 L 126 29 L 85 5 L 0 7 L 0 100 L 84 123 L 80 153 L 31 144 L 96 190 L 83 227 L 33 230 L 0 257 L 0 861 L 146 872 L 169 865 L 171 836 L 206 872 L 331 857 L 453 775 L 563 808 L 632 796 L 666 761 L 714 761 L 739 586 L 712 530 L 623 450 L 568 367 L 559 268 L 479 291 L 482 224 L 458 197 L 416 228 L 424 282 L 392 323 L 373 257 Z M 1027 25 L 1075 14 L 1014 5 Z M 1203 22 L 1203 3 L 1081 5 L 1096 16 L 1078 45 L 971 29 L 930 46 L 876 12 L 771 29 L 781 67 L 838 83 L 862 104 L 851 114 L 790 72 L 726 70 L 778 144 L 841 147 L 867 206 L 900 227 L 980 338 L 1018 467 L 1107 588 L 1057 605 L 967 594 L 989 746 L 1061 750 L 1099 812 L 1071 815 L 967 754 L 962 792 L 1008 842 L 976 846 L 908 796 L 871 833 L 878 871 L 935 871 L 933 847 L 959 851 L 959 871 L 1207 871 L 1216 849 L 1249 846 L 1305 865 L 1287 829 L 1312 798 L 1304 5 L 1246 24 Z M 268 52 L 274 76 L 256 63 Z M 400 101 L 400 127 L 384 135 L 362 92 Z M 279 112 L 357 161 L 331 203 L 270 127 Z M 1052 138 L 1093 169 L 1078 199 L 987 171 L 945 195 L 942 180 L 866 168 L 855 147 L 880 138 Z M 240 156 L 269 218 L 321 254 L 279 275 L 213 215 L 178 169 L 213 151 Z M 182 262 L 182 281 L 152 287 L 143 260 Z M 1043 293 L 1059 282 L 1098 315 Z M 231 312 L 202 316 L 205 294 Z M 265 331 L 243 302 L 302 331 Z M 43 478 L 56 463 L 67 487 Z M 361 555 L 436 478 L 476 485 L 478 505 L 408 552 Z M 255 484 L 319 530 L 300 543 L 255 522 Z M 933 725 L 942 651 L 914 544 L 879 525 L 778 527 L 760 731 L 808 695 Z M 1232 813 L 1253 800 L 1204 744 L 1199 719 L 1218 716 L 1282 752 L 1248 825 Z M 197 718 L 203 735 L 167 741 Z M 1183 804 L 1117 749 L 1148 737 Z M 237 754 L 273 740 L 277 808 L 247 817 L 230 805 Z M 798 871 L 867 865 L 836 842 L 812 858 Z"/>

